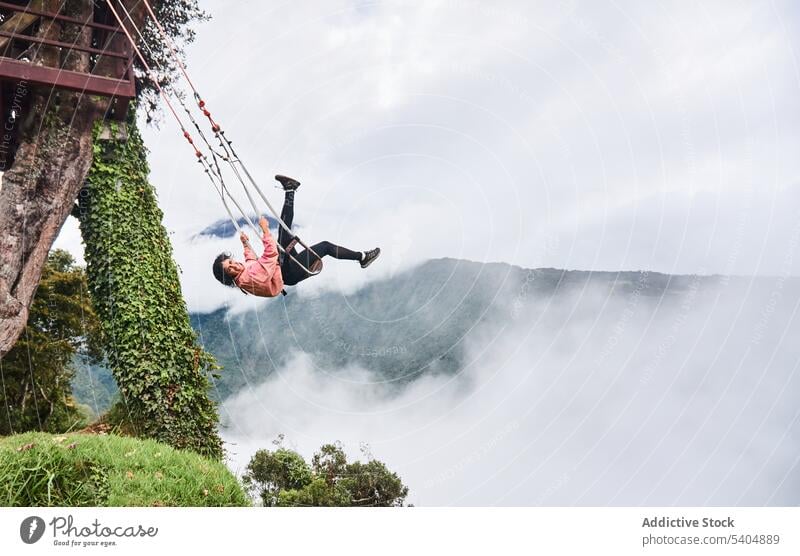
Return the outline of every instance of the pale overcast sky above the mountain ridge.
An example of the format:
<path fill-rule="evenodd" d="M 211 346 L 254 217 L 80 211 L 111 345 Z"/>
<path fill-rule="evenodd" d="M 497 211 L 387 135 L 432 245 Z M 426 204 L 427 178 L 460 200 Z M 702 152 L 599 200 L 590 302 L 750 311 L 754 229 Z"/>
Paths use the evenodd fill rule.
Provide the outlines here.
<path fill-rule="evenodd" d="M 308 290 L 439 256 L 800 273 L 796 2 L 202 4 L 190 71 L 274 204 L 296 176 L 304 237 L 384 250 Z M 237 241 L 191 237 L 223 208 L 173 121 L 145 135 L 187 301 L 218 306 Z"/>

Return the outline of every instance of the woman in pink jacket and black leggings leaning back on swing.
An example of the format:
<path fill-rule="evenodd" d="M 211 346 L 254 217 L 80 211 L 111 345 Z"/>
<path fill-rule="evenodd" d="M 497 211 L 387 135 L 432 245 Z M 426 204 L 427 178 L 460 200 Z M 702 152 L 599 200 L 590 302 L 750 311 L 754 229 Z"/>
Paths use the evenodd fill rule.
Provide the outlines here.
<path fill-rule="evenodd" d="M 294 219 L 294 194 L 300 187 L 300 182 L 280 175 L 275 176 L 275 179 L 281 183 L 285 191 L 281 220 L 288 228 L 291 228 Z M 240 239 L 244 247 L 244 262 L 232 259 L 228 253 L 221 253 L 214 260 L 212 270 L 214 277 L 222 284 L 238 287 L 244 292 L 259 297 L 275 297 L 283 291 L 284 285 L 294 286 L 309 276 L 314 276 L 314 274 L 309 274 L 306 269 L 315 271 L 322 264 L 323 257 L 331 256 L 334 259 L 358 261 L 361 263 L 361 268 L 367 268 L 381 254 L 381 250 L 377 247 L 364 252 L 351 251 L 329 241 L 317 243 L 312 245 L 311 249 L 304 249 L 298 253 L 295 249 L 294 236 L 279 226 L 278 244 L 286 251 L 282 261 L 279 261 L 278 248 L 275 245 L 275 239 L 270 234 L 267 219 L 262 216 L 258 224 L 263 232 L 261 240 L 264 243 L 264 252 L 261 257 L 256 257 L 250 247 L 247 234 L 242 232 Z"/>

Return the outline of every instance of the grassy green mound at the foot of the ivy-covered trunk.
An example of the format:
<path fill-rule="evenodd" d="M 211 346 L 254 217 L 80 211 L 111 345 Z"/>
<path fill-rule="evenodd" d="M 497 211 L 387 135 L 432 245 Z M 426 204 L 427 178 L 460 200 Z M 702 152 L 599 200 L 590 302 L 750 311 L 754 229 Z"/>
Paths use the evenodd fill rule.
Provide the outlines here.
<path fill-rule="evenodd" d="M 0 506 L 249 506 L 219 462 L 153 440 L 26 433 L 0 438 Z"/>

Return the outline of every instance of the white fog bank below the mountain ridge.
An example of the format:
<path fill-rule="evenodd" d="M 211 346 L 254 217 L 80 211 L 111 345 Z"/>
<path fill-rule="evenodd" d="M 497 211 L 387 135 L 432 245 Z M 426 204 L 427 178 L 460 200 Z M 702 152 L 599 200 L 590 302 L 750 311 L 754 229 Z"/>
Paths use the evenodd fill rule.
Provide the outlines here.
<path fill-rule="evenodd" d="M 797 286 L 525 300 L 458 375 L 400 390 L 298 354 L 223 404 L 230 466 L 283 433 L 369 444 L 421 505 L 795 504 Z"/>

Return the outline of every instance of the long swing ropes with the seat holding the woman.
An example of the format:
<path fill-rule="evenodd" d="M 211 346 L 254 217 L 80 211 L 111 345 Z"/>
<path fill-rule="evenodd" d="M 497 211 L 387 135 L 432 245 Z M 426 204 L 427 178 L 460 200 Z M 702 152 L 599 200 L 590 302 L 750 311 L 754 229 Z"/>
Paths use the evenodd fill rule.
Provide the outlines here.
<path fill-rule="evenodd" d="M 147 69 L 148 73 L 151 74 L 152 72 L 149 69 L 149 66 L 148 66 L 147 62 L 145 61 L 144 56 L 142 55 L 141 51 L 139 50 L 139 48 L 135 44 L 135 41 L 133 40 L 133 37 L 128 32 L 127 28 L 125 27 L 125 24 L 123 23 L 122 18 L 120 17 L 120 15 L 117 13 L 116 9 L 114 9 L 113 5 L 111 4 L 111 0 L 106 0 L 106 2 L 108 3 L 109 7 L 111 8 L 111 11 L 114 14 L 114 17 L 117 19 L 118 23 L 123 28 L 123 31 L 125 32 L 125 35 L 127 36 L 128 40 L 133 44 L 134 50 L 136 51 L 136 54 L 137 54 L 138 58 L 141 60 L 142 64 L 145 66 L 145 68 Z M 322 262 L 321 258 L 319 257 L 319 255 L 316 252 L 314 252 L 314 250 L 311 247 L 309 247 L 306 243 L 304 243 L 300 239 L 300 237 L 297 236 L 297 234 L 295 234 L 292 231 L 291 228 L 289 228 L 289 226 L 286 225 L 286 223 L 280 217 L 278 212 L 275 210 L 275 207 L 273 207 L 272 204 L 269 202 L 269 199 L 263 193 L 261 188 L 258 186 L 258 183 L 256 182 L 256 180 L 253 178 L 253 176 L 248 171 L 248 169 L 245 166 L 244 162 L 241 161 L 241 159 L 239 158 L 238 154 L 234 150 L 233 143 L 230 140 L 228 140 L 228 138 L 225 136 L 225 132 L 222 130 L 221 126 L 219 124 L 217 124 L 217 122 L 214 121 L 214 119 L 211 116 L 211 112 L 206 108 L 205 101 L 200 96 L 197 88 L 194 85 L 194 82 L 189 77 L 189 73 L 186 70 L 186 66 L 183 64 L 183 62 L 180 59 L 180 56 L 177 53 L 175 43 L 172 41 L 172 39 L 169 37 L 169 35 L 164 30 L 164 28 L 161 25 L 161 23 L 158 21 L 158 18 L 155 16 L 155 13 L 154 13 L 154 11 L 152 9 L 152 6 L 148 2 L 148 0 L 144 0 L 144 4 L 145 4 L 145 7 L 146 7 L 151 19 L 153 20 L 153 22 L 155 23 L 155 25 L 157 27 L 157 29 L 159 31 L 159 34 L 161 35 L 162 40 L 167 44 L 167 46 L 169 48 L 169 51 L 170 51 L 170 54 L 172 55 L 173 60 L 175 61 L 175 63 L 180 68 L 181 73 L 183 74 L 184 78 L 186 79 L 186 82 L 189 84 L 189 87 L 192 89 L 192 92 L 194 94 L 195 100 L 197 101 L 198 108 L 203 112 L 203 115 L 206 116 L 206 118 L 208 119 L 208 121 L 209 121 L 209 123 L 211 125 L 211 130 L 214 132 L 214 136 L 217 138 L 217 140 L 218 140 L 218 142 L 220 144 L 220 147 L 224 151 L 224 154 L 216 152 L 216 150 L 211 146 L 211 144 L 209 143 L 209 141 L 206 138 L 205 134 L 203 133 L 202 129 L 200 128 L 200 125 L 197 123 L 197 121 L 195 120 L 194 116 L 192 115 L 191 110 L 189 110 L 189 107 L 183 101 L 181 96 L 176 94 L 175 96 L 178 99 L 178 102 L 181 104 L 181 106 L 184 109 L 184 111 L 186 112 L 186 115 L 189 118 L 189 121 L 192 123 L 194 128 L 197 130 L 198 136 L 203 140 L 203 142 L 206 145 L 206 148 L 211 153 L 211 158 L 212 158 L 213 163 L 214 163 L 214 168 L 211 170 L 211 172 L 209 172 L 208 168 L 205 168 L 205 166 L 208 166 L 209 168 L 211 166 L 210 163 L 208 162 L 208 159 L 205 157 L 205 155 L 198 154 L 200 152 L 199 149 L 197 149 L 197 147 L 194 145 L 194 143 L 192 143 L 191 138 L 187 137 L 188 136 L 188 132 L 185 130 L 180 118 L 177 115 L 177 112 L 172 107 L 171 103 L 169 103 L 169 101 L 166 99 L 165 92 L 163 91 L 163 89 L 161 88 L 161 86 L 159 85 L 157 80 L 154 80 L 154 82 L 156 83 L 156 86 L 158 87 L 161 96 L 164 97 L 165 100 L 167 100 L 167 103 L 168 103 L 168 105 L 170 107 L 170 111 L 173 113 L 173 116 L 175 116 L 175 118 L 178 120 L 179 125 L 181 126 L 181 129 L 184 132 L 184 136 L 187 137 L 187 139 L 192 144 L 192 146 L 194 146 L 195 151 L 196 151 L 195 152 L 196 156 L 198 156 L 198 159 L 203 160 L 203 162 L 205 163 L 204 169 L 206 170 L 206 173 L 210 177 L 212 177 L 212 183 L 215 184 L 215 187 L 217 187 L 217 184 L 214 182 L 212 174 L 216 174 L 216 177 L 220 182 L 220 187 L 217 187 L 217 191 L 220 193 L 220 196 L 223 199 L 223 204 L 225 205 L 225 209 L 228 212 L 229 217 L 231 217 L 231 220 L 232 220 L 234 226 L 236 227 L 237 230 L 239 230 L 241 232 L 241 228 L 238 225 L 238 222 L 232 217 L 231 211 L 230 211 L 229 207 L 227 206 L 227 203 L 225 202 L 225 199 L 224 199 L 224 194 L 225 193 L 227 193 L 228 197 L 231 199 L 231 201 L 234 203 L 234 205 L 236 205 L 236 207 L 239 209 L 239 212 L 242 214 L 242 216 L 248 222 L 248 224 L 253 228 L 254 231 L 256 231 L 256 228 L 255 228 L 253 222 L 246 215 L 246 213 L 242 210 L 241 206 L 236 202 L 235 198 L 231 195 L 230 191 L 227 189 L 227 187 L 225 185 L 225 182 L 224 182 L 224 179 L 222 178 L 222 171 L 220 169 L 219 160 L 218 160 L 219 158 L 223 159 L 225 162 L 228 163 L 228 166 L 231 168 L 231 170 L 233 171 L 233 173 L 236 176 L 237 180 L 241 184 L 242 189 L 244 190 L 245 195 L 246 195 L 248 201 L 250 202 L 250 205 L 253 207 L 253 210 L 257 214 L 260 213 L 260 210 L 259 210 L 259 208 L 258 208 L 258 206 L 257 206 L 257 204 L 255 202 L 255 199 L 253 198 L 253 196 L 252 196 L 252 194 L 250 192 L 250 189 L 248 188 L 247 184 L 245 183 L 245 180 L 242 178 L 242 175 L 240 173 L 240 169 L 244 173 L 244 175 L 247 177 L 247 180 L 250 182 L 250 185 L 256 190 L 256 192 L 258 193 L 259 197 L 261 197 L 262 201 L 264 201 L 264 203 L 267 205 L 267 208 L 272 213 L 272 215 L 275 218 L 275 220 L 278 222 L 278 225 L 280 225 L 292 237 L 292 243 L 290 245 L 294 246 L 295 244 L 299 243 L 305 249 L 307 249 L 309 251 L 309 253 L 311 253 L 311 255 L 316 259 L 316 261 L 314 261 L 311 264 L 312 268 L 314 268 L 315 266 L 317 268 L 314 269 L 314 270 L 311 270 L 311 269 L 307 268 L 303 263 L 301 263 L 300 261 L 297 260 L 297 258 L 293 254 L 292 249 L 289 249 L 287 251 L 280 244 L 277 244 L 277 242 L 276 242 L 276 245 L 277 245 L 278 249 L 280 250 L 280 252 L 283 253 L 284 256 L 289 256 L 289 258 L 292 261 L 294 261 L 298 266 L 300 266 L 300 268 L 302 268 L 303 271 L 306 272 L 307 274 L 309 274 L 311 276 L 319 274 L 319 272 L 321 271 L 321 265 L 317 266 L 316 263 L 318 263 L 318 262 L 321 263 Z M 124 4 L 120 3 L 120 7 L 124 11 L 125 16 L 126 16 L 128 22 L 130 22 L 131 27 L 134 29 L 134 31 L 138 35 L 142 45 L 144 45 L 144 47 L 147 48 L 148 52 L 152 56 L 153 55 L 152 47 L 149 45 L 149 43 L 145 39 L 145 37 L 142 34 L 142 32 L 139 29 L 139 27 L 134 23 L 133 18 L 131 17 L 130 13 L 125 8 Z M 152 76 L 151 76 L 151 79 L 153 79 Z M 237 166 L 236 166 L 237 164 L 239 165 L 239 168 L 237 168 Z"/>

